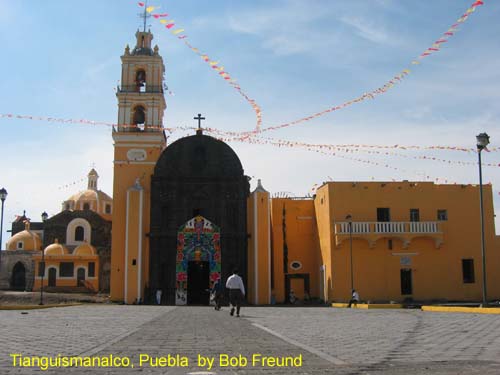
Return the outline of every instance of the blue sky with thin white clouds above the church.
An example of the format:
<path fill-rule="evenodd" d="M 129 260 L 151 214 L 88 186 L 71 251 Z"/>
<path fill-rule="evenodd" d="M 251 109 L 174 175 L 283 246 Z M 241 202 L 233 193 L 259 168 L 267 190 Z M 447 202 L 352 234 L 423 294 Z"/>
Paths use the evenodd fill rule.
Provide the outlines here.
<path fill-rule="evenodd" d="M 475 147 L 486 132 L 500 145 L 500 2 L 484 0 L 439 52 L 411 65 L 473 0 L 157 0 L 189 43 L 219 61 L 262 109 L 263 127 L 294 121 L 383 86 L 375 99 L 266 137 L 309 143 Z M 120 56 L 133 48 L 141 8 L 129 0 L 0 0 L 0 115 L 117 120 Z M 148 22 L 163 56 L 164 126 L 249 131 L 249 103 L 157 20 Z M 0 117 L 0 187 L 7 189 L 3 243 L 15 215 L 40 220 L 86 188 L 92 166 L 111 195 L 113 143 L 103 125 Z M 168 143 L 192 131 L 168 134 Z M 301 148 L 231 142 L 245 174 L 272 195 L 306 196 L 324 181 L 435 180 L 478 183 L 473 152 L 392 150 L 391 155 L 324 155 Z M 435 157 L 467 165 L 438 162 Z M 357 160 L 353 160 L 357 159 Z M 361 161 L 360 161 L 361 160 Z M 368 161 L 369 163 L 363 162 Z M 498 152 L 483 161 L 499 165 Z M 379 163 L 374 165 L 373 163 Z M 500 211 L 498 167 L 484 167 Z M 499 217 L 500 218 L 500 217 Z M 500 221 L 496 227 L 500 228 Z M 497 229 L 498 232 L 498 229 Z"/>

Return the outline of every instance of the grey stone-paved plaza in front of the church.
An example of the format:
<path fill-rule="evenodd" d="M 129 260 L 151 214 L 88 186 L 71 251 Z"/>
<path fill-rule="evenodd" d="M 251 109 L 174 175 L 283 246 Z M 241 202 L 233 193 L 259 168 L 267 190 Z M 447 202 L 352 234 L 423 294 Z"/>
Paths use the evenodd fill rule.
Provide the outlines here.
<path fill-rule="evenodd" d="M 236 318 L 227 307 L 82 305 L 0 311 L 0 337 L 0 374 L 500 373 L 498 315 L 246 307 Z M 130 363 L 19 366 L 44 356 Z"/>

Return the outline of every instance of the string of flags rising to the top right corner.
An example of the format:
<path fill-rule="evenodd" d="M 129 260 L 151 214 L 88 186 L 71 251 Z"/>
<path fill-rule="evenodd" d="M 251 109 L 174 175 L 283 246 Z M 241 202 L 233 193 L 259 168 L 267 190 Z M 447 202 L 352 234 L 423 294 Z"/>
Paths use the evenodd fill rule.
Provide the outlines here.
<path fill-rule="evenodd" d="M 453 35 L 455 35 L 455 33 L 458 31 L 458 27 L 461 24 L 463 24 L 465 21 L 467 21 L 469 16 L 473 12 L 475 12 L 476 8 L 480 5 L 484 5 L 484 2 L 481 0 L 474 1 L 470 5 L 470 7 L 465 11 L 465 13 L 462 14 L 462 16 L 460 18 L 458 18 L 456 20 L 456 22 L 450 28 L 448 28 L 447 31 L 431 45 L 431 47 L 427 48 L 416 59 L 411 61 L 411 66 L 418 66 L 421 64 L 421 62 L 424 58 L 431 56 L 433 53 L 439 52 L 441 47 L 443 46 L 443 44 L 448 42 L 448 40 Z M 283 123 L 280 125 L 268 126 L 268 127 L 262 128 L 261 132 L 278 130 L 278 129 L 286 128 L 286 127 L 289 127 L 292 125 L 297 125 L 297 124 L 300 124 L 302 122 L 310 121 L 310 120 L 313 120 L 313 119 L 318 118 L 320 116 L 326 115 L 328 113 L 344 109 L 344 108 L 349 107 L 353 104 L 361 103 L 367 99 L 375 99 L 378 95 L 386 93 L 388 90 L 392 89 L 397 84 L 401 83 L 403 81 L 403 79 L 405 79 L 410 73 L 411 73 L 410 68 L 405 68 L 401 72 L 396 74 L 394 77 L 392 77 L 389 81 L 387 81 L 383 86 L 380 86 L 380 87 L 378 87 L 375 90 L 372 90 L 370 92 L 364 93 L 355 99 L 349 100 L 349 101 L 344 102 L 342 104 L 339 104 L 337 106 L 330 107 L 330 108 L 325 109 L 323 111 L 316 112 L 310 116 L 302 117 L 302 118 L 297 119 L 295 121 L 290 121 L 290 122 L 286 122 L 286 123 Z M 255 133 L 258 133 L 258 131 L 254 130 L 252 132 L 247 132 L 247 133 L 255 134 Z"/>

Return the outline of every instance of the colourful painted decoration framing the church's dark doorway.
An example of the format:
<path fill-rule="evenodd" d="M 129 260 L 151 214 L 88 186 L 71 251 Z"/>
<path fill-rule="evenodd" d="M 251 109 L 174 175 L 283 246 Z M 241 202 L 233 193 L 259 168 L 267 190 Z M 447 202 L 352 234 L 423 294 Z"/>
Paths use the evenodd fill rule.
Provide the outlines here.
<path fill-rule="evenodd" d="M 220 229 L 203 216 L 196 216 L 177 232 L 175 304 L 187 304 L 189 262 L 206 262 L 210 288 L 221 277 Z"/>

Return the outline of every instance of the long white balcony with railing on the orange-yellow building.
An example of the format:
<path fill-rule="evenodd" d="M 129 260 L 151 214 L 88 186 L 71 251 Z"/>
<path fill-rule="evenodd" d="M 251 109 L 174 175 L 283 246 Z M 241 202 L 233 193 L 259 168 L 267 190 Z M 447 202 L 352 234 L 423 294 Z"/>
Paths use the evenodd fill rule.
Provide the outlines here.
<path fill-rule="evenodd" d="M 336 222 L 334 224 L 334 235 L 336 244 L 340 245 L 349 238 L 350 225 L 352 225 L 352 236 L 365 239 L 370 247 L 380 238 L 398 238 L 403 241 L 403 247 L 409 246 L 410 242 L 417 237 L 429 237 L 434 239 L 436 248 L 443 242 L 443 232 L 439 221 L 364 221 L 364 222 Z"/>

